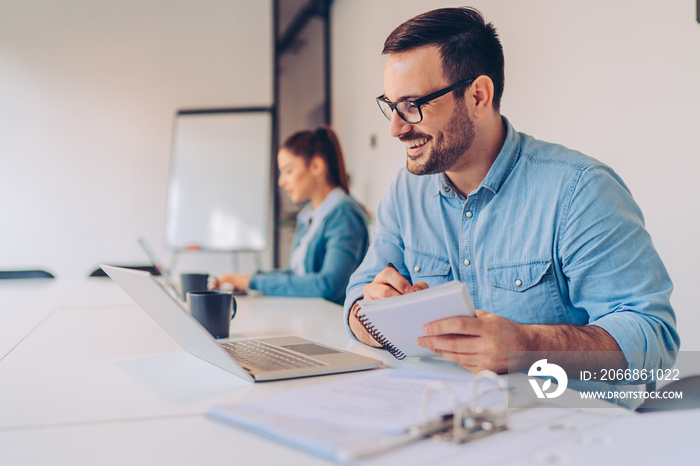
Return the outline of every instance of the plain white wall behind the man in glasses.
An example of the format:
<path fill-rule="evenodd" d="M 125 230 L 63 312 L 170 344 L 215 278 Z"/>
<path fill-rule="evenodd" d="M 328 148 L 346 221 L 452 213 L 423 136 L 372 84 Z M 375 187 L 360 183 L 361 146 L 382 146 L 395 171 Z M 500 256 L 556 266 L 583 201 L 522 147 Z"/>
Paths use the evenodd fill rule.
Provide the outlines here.
<path fill-rule="evenodd" d="M 386 36 L 461 2 L 336 0 L 333 122 L 354 194 L 374 210 L 405 163 L 374 97 Z M 683 350 L 700 350 L 700 24 L 691 0 L 473 0 L 506 57 L 502 112 L 515 128 L 612 166 L 645 213 L 675 284 Z M 376 148 L 370 147 L 372 135 Z"/>

